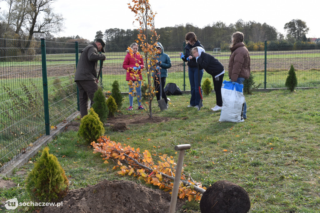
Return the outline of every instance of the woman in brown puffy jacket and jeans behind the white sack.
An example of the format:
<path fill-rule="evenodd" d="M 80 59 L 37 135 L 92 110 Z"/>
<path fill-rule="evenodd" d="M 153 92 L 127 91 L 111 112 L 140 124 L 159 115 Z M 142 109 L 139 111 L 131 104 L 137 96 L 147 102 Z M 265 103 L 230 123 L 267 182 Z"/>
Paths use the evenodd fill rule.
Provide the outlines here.
<path fill-rule="evenodd" d="M 229 79 L 235 84 L 243 84 L 250 76 L 250 56 L 248 49 L 244 46 L 244 35 L 235 32 L 231 37 L 229 59 Z M 247 119 L 247 104 L 244 102 L 243 118 Z"/>

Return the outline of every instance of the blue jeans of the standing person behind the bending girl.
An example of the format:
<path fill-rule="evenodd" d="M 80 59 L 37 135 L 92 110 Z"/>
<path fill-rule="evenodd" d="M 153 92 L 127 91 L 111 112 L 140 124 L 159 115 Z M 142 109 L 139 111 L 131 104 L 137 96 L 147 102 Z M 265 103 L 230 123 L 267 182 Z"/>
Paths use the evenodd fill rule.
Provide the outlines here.
<path fill-rule="evenodd" d="M 198 83 L 198 68 L 188 67 L 188 74 L 189 74 L 189 82 L 191 87 L 190 105 L 198 106 L 201 99 L 200 93 L 199 93 L 199 83 Z M 203 69 L 200 70 L 200 86 L 201 86 L 202 76 L 203 76 Z M 200 90 L 202 94 L 201 87 L 200 87 Z"/>

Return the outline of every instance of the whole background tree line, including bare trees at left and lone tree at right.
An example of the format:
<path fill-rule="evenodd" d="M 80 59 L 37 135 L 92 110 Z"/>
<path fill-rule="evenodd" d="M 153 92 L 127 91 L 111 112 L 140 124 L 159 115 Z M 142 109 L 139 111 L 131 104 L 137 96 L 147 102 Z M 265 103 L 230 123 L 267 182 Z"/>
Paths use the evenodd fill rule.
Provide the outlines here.
<path fill-rule="evenodd" d="M 38 41 L 41 37 L 47 41 L 62 43 L 91 43 L 89 39 L 76 36 L 54 37 L 53 33 L 63 30 L 64 18 L 61 14 L 53 11 L 53 4 L 57 0 L 2 0 L 6 2 L 8 9 L 0 10 L 0 38 L 13 38 L 26 40 L 18 42 L 17 47 L 29 48 L 31 41 Z M 309 31 L 305 21 L 296 19 L 284 25 L 287 35 L 277 32 L 276 28 L 267 23 L 261 24 L 256 21 L 244 21 L 239 19 L 236 23 L 227 25 L 222 21 L 213 22 L 203 28 L 194 26 L 192 23 L 186 25 L 175 25 L 173 27 L 156 28 L 159 41 L 172 50 L 181 49 L 184 37 L 188 32 L 194 32 L 198 40 L 206 48 L 226 48 L 230 42 L 231 35 L 235 31 L 244 33 L 244 43 L 259 43 L 264 40 L 278 41 L 289 46 L 296 42 L 308 42 L 306 34 Z M 104 32 L 98 31 L 95 39 L 101 38 L 105 41 L 109 51 L 123 51 L 135 40 L 139 31 L 137 29 L 110 28 Z M 320 40 L 320 39 L 319 39 Z M 303 43 L 302 43 L 303 44 Z M 1 44 L 2 45 L 2 44 Z M 259 45 L 259 44 L 257 44 Z M 167 50 L 170 50 L 170 48 Z M 24 51 L 24 49 L 22 49 Z"/>

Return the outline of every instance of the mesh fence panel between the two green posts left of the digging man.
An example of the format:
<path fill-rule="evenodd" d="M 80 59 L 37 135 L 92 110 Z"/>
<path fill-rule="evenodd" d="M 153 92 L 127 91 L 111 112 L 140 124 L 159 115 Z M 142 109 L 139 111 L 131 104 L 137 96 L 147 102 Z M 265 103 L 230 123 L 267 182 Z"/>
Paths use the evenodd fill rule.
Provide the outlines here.
<path fill-rule="evenodd" d="M 75 44 L 46 42 L 46 53 L 50 125 L 58 126 L 77 111 Z"/>

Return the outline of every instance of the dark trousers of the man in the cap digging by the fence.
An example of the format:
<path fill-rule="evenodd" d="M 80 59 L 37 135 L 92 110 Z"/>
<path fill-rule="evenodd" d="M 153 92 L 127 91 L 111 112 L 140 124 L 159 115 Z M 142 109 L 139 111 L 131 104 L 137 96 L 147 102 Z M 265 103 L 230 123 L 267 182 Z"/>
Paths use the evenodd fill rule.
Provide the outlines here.
<path fill-rule="evenodd" d="M 80 114 L 83 118 L 88 114 L 88 98 L 91 100 L 90 106 L 93 104 L 93 96 L 98 90 L 98 84 L 95 80 L 76 81 L 76 83 L 79 89 Z"/>

